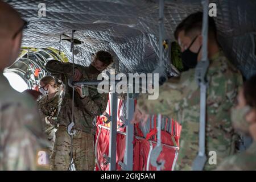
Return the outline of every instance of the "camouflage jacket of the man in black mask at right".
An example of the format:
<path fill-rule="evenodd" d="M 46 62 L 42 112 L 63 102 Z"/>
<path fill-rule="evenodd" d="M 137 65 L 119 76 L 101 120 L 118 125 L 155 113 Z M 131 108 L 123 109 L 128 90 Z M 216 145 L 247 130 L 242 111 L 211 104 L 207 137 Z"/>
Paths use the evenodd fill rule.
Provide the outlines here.
<path fill-rule="evenodd" d="M 240 72 L 222 52 L 210 59 L 207 72 L 206 154 L 215 151 L 217 165 L 234 154 L 236 135 L 230 119 L 230 110 L 236 101 L 238 87 L 242 85 Z M 142 95 L 138 109 L 150 114 L 163 114 L 176 119 L 182 126 L 179 159 L 176 169 L 191 170 L 199 149 L 200 88 L 195 81 L 195 69 L 170 78 L 159 88 L 157 100 L 147 100 Z M 208 156 L 209 158 L 209 156 Z M 205 164 L 205 170 L 216 165 Z"/>

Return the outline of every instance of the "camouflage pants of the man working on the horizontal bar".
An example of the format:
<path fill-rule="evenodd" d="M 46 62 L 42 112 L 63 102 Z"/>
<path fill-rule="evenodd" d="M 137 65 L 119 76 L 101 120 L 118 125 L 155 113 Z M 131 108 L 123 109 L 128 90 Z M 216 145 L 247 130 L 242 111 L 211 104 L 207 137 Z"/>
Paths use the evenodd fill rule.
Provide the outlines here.
<path fill-rule="evenodd" d="M 67 127 L 60 125 L 56 131 L 56 139 L 50 158 L 51 169 L 67 171 L 70 164 L 71 137 Z M 94 136 L 76 131 L 73 136 L 73 160 L 76 170 L 93 171 L 95 166 Z"/>

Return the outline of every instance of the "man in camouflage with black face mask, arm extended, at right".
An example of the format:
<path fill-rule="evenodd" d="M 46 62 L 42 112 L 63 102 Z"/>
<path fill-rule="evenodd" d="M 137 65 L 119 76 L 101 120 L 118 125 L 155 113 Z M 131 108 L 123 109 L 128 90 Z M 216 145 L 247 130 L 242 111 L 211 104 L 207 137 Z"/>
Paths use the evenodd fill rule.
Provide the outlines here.
<path fill-rule="evenodd" d="M 199 149 L 200 88 L 195 81 L 195 67 L 201 59 L 203 13 L 189 15 L 176 28 L 175 38 L 181 47 L 183 64 L 189 68 L 179 78 L 170 78 L 159 88 L 157 100 L 138 100 L 138 113 L 163 114 L 176 119 L 182 125 L 179 158 L 176 170 L 191 170 Z M 216 40 L 214 20 L 209 17 L 207 72 L 206 154 L 217 154 L 217 165 L 235 152 L 236 134 L 230 121 L 230 109 L 236 100 L 238 87 L 242 85 L 240 72 L 226 59 Z M 204 170 L 216 168 L 208 160 Z"/>

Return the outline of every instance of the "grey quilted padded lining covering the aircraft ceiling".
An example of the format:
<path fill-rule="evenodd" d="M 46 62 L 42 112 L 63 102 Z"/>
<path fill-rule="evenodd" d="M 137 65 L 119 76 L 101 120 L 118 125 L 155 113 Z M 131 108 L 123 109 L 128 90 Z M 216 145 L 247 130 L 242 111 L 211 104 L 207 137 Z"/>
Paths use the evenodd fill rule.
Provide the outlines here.
<path fill-rule="evenodd" d="M 159 3 L 153 0 L 42 0 L 46 16 L 39 18 L 36 0 L 10 0 L 29 21 L 22 46 L 54 47 L 72 62 L 71 31 L 75 32 L 75 63 L 89 65 L 100 49 L 114 55 L 116 72 L 152 72 L 158 65 Z M 256 1 L 215 0 L 218 40 L 229 59 L 249 77 L 256 73 Z M 166 0 L 164 27 L 174 41 L 177 24 L 187 15 L 202 11 L 201 0 Z M 167 65 L 168 66 L 168 65 Z"/>

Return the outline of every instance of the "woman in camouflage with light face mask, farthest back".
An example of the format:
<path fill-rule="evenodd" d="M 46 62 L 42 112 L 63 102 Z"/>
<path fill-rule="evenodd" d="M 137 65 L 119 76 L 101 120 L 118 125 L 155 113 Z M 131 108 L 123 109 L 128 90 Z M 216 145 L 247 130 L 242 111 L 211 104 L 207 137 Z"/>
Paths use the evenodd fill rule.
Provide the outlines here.
<path fill-rule="evenodd" d="M 55 132 L 57 130 L 56 119 L 59 114 L 63 90 L 61 85 L 59 88 L 55 78 L 52 76 L 45 76 L 40 80 L 39 90 L 44 96 L 36 104 L 38 105 L 42 122 L 46 123 L 46 129 L 44 131 L 48 136 L 49 142 L 51 142 L 49 154 L 52 154 Z"/>

